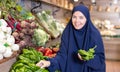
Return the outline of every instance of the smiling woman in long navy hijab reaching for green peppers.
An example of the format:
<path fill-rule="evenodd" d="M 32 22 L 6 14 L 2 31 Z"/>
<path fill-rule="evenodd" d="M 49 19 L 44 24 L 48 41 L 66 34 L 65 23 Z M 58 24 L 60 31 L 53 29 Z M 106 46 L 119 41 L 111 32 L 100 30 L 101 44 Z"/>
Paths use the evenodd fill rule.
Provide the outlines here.
<path fill-rule="evenodd" d="M 95 48 L 95 57 L 88 61 L 78 54 L 79 49 Z M 47 67 L 50 72 L 105 72 L 104 46 L 99 31 L 90 20 L 87 7 L 79 5 L 73 8 L 72 18 L 66 26 L 62 37 L 60 51 L 55 58 L 36 64 Z"/>

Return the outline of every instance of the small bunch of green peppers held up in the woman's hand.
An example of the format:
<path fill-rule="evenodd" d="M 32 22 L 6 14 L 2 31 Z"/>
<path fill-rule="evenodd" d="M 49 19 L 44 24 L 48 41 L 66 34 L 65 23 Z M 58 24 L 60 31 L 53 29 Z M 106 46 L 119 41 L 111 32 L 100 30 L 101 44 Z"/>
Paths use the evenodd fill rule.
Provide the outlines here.
<path fill-rule="evenodd" d="M 90 48 L 88 51 L 85 50 L 78 50 L 78 53 L 81 55 L 82 59 L 85 61 L 91 60 L 94 58 L 95 48 L 97 46 L 95 45 L 93 48 Z"/>

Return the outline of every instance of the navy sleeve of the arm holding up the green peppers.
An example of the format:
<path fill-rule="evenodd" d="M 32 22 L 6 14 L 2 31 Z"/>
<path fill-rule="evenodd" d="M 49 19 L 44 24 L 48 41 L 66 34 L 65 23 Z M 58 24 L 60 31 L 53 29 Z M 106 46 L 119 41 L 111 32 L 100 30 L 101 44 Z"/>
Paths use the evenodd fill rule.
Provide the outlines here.
<path fill-rule="evenodd" d="M 95 48 L 95 57 L 87 61 L 87 66 L 94 70 L 104 70 L 105 72 L 105 54 L 104 54 L 104 45 L 102 42 L 102 38 L 100 37 L 95 41 L 97 48 Z"/>

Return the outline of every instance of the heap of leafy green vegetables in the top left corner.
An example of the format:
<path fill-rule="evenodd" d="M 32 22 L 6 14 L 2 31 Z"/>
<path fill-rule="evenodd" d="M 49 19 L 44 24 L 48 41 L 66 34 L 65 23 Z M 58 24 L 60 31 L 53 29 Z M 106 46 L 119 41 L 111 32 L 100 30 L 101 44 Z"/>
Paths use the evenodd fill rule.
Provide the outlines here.
<path fill-rule="evenodd" d="M 18 1 L 0 0 L 1 18 L 7 20 L 10 15 L 17 20 L 31 19 L 33 17 L 32 13 L 25 10 Z"/>

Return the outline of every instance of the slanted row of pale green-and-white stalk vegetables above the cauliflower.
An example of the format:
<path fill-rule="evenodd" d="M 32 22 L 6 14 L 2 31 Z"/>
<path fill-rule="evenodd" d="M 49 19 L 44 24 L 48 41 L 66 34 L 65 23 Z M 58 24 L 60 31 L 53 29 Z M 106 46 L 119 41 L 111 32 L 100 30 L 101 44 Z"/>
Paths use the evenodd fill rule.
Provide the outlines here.
<path fill-rule="evenodd" d="M 65 26 L 55 20 L 48 11 L 42 11 L 36 15 L 41 22 L 40 25 L 50 34 L 51 38 L 57 38 L 65 28 Z"/>

